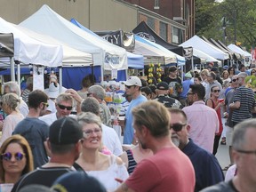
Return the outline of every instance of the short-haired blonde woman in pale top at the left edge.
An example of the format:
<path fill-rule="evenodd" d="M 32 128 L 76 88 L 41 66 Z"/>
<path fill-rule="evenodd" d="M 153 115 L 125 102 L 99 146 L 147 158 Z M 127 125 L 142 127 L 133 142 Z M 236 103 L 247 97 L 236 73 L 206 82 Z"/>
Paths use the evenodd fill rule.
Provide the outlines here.
<path fill-rule="evenodd" d="M 0 102 L 4 113 L 8 115 L 4 119 L 2 137 L 0 138 L 0 147 L 4 140 L 12 136 L 15 126 L 24 118 L 18 109 L 20 102 L 20 98 L 14 93 L 4 94 L 2 101 Z"/>

